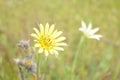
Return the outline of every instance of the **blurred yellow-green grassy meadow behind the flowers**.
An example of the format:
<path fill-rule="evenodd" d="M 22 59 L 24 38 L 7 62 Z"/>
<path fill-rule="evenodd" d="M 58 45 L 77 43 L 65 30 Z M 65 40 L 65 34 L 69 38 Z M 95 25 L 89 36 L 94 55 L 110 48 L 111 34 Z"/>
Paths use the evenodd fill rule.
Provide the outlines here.
<path fill-rule="evenodd" d="M 86 40 L 80 49 L 74 80 L 119 80 L 120 0 L 0 0 L 0 80 L 19 80 L 12 60 L 21 54 L 16 43 L 30 39 L 33 44 L 33 27 L 47 22 L 64 32 L 69 46 L 58 59 L 51 56 L 46 61 L 41 54 L 41 73 L 45 80 L 71 80 L 82 20 L 99 27 L 103 38 Z"/>

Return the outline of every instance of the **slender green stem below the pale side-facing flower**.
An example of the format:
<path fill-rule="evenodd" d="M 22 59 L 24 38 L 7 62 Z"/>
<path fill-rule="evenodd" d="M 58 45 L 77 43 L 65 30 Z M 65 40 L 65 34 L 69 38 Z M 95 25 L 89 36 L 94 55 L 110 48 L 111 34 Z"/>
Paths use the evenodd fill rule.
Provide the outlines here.
<path fill-rule="evenodd" d="M 76 50 L 76 52 L 75 52 L 75 57 L 74 57 L 74 60 L 73 60 L 73 63 L 72 63 L 72 80 L 74 80 L 75 65 L 76 65 L 76 63 L 77 63 L 78 56 L 79 56 L 79 50 L 80 50 L 83 42 L 84 42 L 84 37 L 82 36 L 81 39 L 80 39 L 80 41 L 79 41 L 77 50 Z"/>

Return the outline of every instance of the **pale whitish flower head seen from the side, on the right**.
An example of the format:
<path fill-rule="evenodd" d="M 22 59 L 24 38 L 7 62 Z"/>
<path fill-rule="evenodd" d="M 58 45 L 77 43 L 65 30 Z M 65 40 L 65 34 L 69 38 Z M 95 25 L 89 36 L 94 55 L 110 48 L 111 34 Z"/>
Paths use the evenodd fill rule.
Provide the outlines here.
<path fill-rule="evenodd" d="M 79 28 L 79 31 L 83 32 L 83 34 L 87 38 L 100 40 L 102 35 L 95 34 L 99 30 L 99 28 L 92 29 L 92 23 L 89 23 L 88 28 L 87 28 L 84 21 L 82 21 L 81 24 L 82 24 L 82 27 Z"/>

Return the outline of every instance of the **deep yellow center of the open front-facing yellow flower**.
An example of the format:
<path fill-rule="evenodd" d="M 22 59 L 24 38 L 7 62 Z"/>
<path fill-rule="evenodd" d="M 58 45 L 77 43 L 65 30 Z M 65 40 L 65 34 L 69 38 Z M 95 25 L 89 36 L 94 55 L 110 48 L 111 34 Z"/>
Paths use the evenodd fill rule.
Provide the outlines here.
<path fill-rule="evenodd" d="M 54 39 L 49 35 L 41 35 L 39 43 L 43 49 L 50 50 L 55 46 Z"/>

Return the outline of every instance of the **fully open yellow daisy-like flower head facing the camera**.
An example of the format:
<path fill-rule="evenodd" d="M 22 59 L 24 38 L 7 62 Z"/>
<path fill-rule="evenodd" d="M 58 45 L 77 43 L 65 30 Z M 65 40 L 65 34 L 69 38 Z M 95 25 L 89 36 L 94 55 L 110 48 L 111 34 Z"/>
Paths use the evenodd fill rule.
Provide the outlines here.
<path fill-rule="evenodd" d="M 45 27 L 42 24 L 39 24 L 39 30 L 33 28 L 35 33 L 32 33 L 31 36 L 35 38 L 34 47 L 39 48 L 39 53 L 44 53 L 45 56 L 49 54 L 58 55 L 58 51 L 64 51 L 62 46 L 67 44 L 63 42 L 66 38 L 61 36 L 62 31 L 57 31 L 54 29 L 55 25 L 51 26 L 46 23 Z"/>

